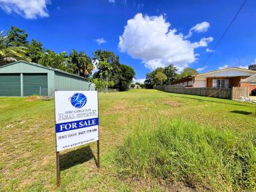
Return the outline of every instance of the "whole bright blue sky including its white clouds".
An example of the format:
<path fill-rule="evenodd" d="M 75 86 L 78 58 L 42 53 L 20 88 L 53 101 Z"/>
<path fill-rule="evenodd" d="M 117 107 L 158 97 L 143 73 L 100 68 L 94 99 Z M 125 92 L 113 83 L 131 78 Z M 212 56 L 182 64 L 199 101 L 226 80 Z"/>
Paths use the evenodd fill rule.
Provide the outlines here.
<path fill-rule="evenodd" d="M 0 0 L 1 30 L 24 29 L 58 53 L 107 49 L 135 69 L 136 78 L 173 63 L 199 72 L 246 67 L 256 58 L 256 1 L 243 10 L 212 50 L 243 0 Z M 129 21 L 129 23 L 127 23 Z M 126 28 L 125 28 L 126 27 Z M 189 34 L 189 31 L 191 33 Z M 214 51 L 203 65 L 209 51 Z"/>

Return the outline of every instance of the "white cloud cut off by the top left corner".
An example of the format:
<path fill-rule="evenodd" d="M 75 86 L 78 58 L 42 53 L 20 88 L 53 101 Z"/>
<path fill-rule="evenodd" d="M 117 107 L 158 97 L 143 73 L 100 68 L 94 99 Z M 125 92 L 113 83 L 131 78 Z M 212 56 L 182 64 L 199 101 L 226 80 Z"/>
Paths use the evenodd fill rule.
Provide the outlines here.
<path fill-rule="evenodd" d="M 0 0 L 0 8 L 8 14 L 17 13 L 26 19 L 49 17 L 49 0 Z"/>

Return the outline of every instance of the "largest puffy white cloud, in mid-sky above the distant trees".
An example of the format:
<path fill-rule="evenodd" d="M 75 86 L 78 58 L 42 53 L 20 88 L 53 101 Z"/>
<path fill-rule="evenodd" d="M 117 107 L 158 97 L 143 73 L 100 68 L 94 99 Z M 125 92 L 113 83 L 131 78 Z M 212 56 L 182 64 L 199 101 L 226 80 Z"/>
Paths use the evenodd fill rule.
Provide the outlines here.
<path fill-rule="evenodd" d="M 138 13 L 127 21 L 123 35 L 119 36 L 119 50 L 142 59 L 149 69 L 171 63 L 183 69 L 197 60 L 195 48 L 206 47 L 213 41 L 213 37 L 208 37 L 191 43 L 176 29 L 169 29 L 170 25 L 163 15 L 149 17 Z"/>

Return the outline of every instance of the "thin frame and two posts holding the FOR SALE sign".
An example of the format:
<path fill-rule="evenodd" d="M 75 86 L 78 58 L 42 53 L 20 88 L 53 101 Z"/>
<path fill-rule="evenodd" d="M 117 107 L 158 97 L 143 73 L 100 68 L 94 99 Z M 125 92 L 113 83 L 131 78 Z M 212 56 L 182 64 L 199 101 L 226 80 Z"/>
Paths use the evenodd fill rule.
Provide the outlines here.
<path fill-rule="evenodd" d="M 57 121 L 56 121 L 56 102 L 55 102 L 55 96 L 56 96 L 56 91 L 58 90 L 55 90 L 54 91 L 54 121 L 55 121 L 55 153 L 56 153 L 56 175 L 57 175 L 57 187 L 59 187 L 61 185 L 61 169 L 60 169 L 60 151 L 57 151 L 57 132 L 56 132 L 56 124 L 57 124 Z M 81 91 L 72 91 L 72 92 L 81 92 Z M 84 92 L 84 91 L 83 91 Z M 98 117 L 98 129 L 97 129 L 97 135 L 98 135 L 98 139 L 97 139 L 97 162 L 96 162 L 96 165 L 97 165 L 97 168 L 100 167 L 100 164 L 99 164 L 99 91 L 96 91 L 97 92 L 97 117 Z M 91 142 L 88 142 L 88 143 L 85 143 L 85 144 L 82 144 L 82 145 L 88 145 L 89 143 L 93 143 L 95 141 L 91 141 Z M 71 147 L 73 148 L 73 147 Z M 69 148 L 69 149 L 71 149 Z M 63 149 L 65 150 L 65 149 Z M 62 151 L 63 151 L 62 150 Z"/>

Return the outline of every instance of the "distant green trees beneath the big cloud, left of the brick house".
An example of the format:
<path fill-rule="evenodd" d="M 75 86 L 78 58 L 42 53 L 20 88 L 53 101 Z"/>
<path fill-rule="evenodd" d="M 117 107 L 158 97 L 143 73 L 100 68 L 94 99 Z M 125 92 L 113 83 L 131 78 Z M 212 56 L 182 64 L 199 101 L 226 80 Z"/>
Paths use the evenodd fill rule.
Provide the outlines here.
<path fill-rule="evenodd" d="M 171 85 L 172 81 L 196 74 L 197 71 L 190 67 L 186 67 L 179 74 L 177 67 L 170 64 L 166 67 L 158 67 L 151 73 L 147 73 L 144 83 L 147 89 L 152 89 L 154 85 Z"/>

